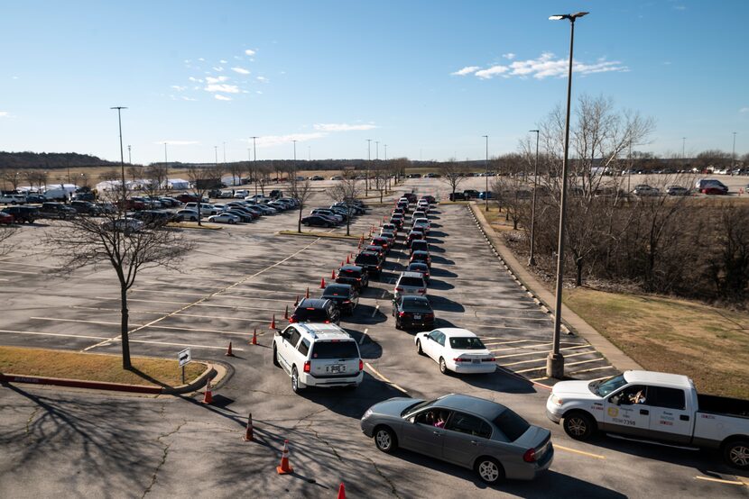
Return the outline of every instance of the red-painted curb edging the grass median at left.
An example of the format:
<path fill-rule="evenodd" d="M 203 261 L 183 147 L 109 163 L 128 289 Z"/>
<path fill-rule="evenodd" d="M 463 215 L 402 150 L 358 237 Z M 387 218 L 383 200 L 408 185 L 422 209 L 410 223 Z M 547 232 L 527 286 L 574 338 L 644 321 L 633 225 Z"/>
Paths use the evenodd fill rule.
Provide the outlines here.
<path fill-rule="evenodd" d="M 16 374 L 0 374 L 3 383 L 28 383 L 31 385 L 67 386 L 69 388 L 86 388 L 88 390 L 107 390 L 110 392 L 126 392 L 131 394 L 175 395 L 196 391 L 206 384 L 208 377 L 217 377 L 217 370 L 208 364 L 208 368 L 189 385 L 176 387 L 125 385 L 123 383 L 109 383 L 106 381 L 86 381 L 83 379 L 68 379 L 63 377 L 37 377 Z"/>

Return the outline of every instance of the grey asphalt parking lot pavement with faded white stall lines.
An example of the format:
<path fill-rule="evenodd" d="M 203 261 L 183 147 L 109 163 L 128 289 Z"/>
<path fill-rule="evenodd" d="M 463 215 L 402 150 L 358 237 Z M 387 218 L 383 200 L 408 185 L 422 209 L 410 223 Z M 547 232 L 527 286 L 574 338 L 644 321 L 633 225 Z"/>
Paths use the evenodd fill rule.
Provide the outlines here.
<path fill-rule="evenodd" d="M 483 185 L 484 179 L 467 180 L 461 188 Z M 409 180 L 405 189 L 446 199 L 448 186 L 421 178 Z M 325 203 L 318 193 L 310 206 Z M 352 223 L 352 234 L 368 234 L 389 212 L 390 206 L 374 206 Z M 396 245 L 356 313 L 341 322 L 360 344 L 363 385 L 354 392 L 293 395 L 289 377 L 273 367 L 270 322 L 274 317 L 279 327 L 285 325 L 286 307 L 291 310 L 308 288 L 310 296 L 318 296 L 320 280 L 328 281 L 347 255 L 356 254 L 356 240 L 278 235 L 296 228 L 295 211 L 220 231 L 183 229 L 196 249 L 180 268 L 145 271 L 129 293 L 131 349 L 134 355 L 173 358 L 190 347 L 193 358 L 223 363 L 229 377 L 217 387 L 217 404 L 197 404 L 199 397 L 5 389 L 0 442 L 8 451 L 0 457 L 0 493 L 46 496 L 65 486 L 87 495 L 249 491 L 261 497 L 324 497 L 333 496 L 343 481 L 351 497 L 747 495 L 749 479 L 718 464 L 715 456 L 615 439 L 580 443 L 548 421 L 544 370 L 550 315 L 504 271 L 466 206 L 438 205 L 430 219 L 429 296 L 438 326 L 476 332 L 501 367 L 494 374 L 443 376 L 435 362 L 416 354 L 412 333 L 394 328 L 393 283 L 407 262 L 407 251 Z M 0 344 L 119 354 L 116 278 L 108 268 L 54 273 L 59 261 L 36 243 L 55 223 L 24 226 L 17 236 L 20 248 L 0 259 Z M 325 231 L 344 233 L 345 226 Z M 257 346 L 249 344 L 255 330 Z M 234 358 L 224 355 L 229 341 Z M 569 377 L 615 374 L 585 340 L 565 335 L 562 341 Z M 467 469 L 408 451 L 385 455 L 359 430 L 358 419 L 375 402 L 447 393 L 501 402 L 549 428 L 557 449 L 550 472 L 533 482 L 486 488 Z M 247 413 L 253 413 L 259 442 L 241 440 Z M 290 440 L 296 471 L 291 477 L 274 470 L 284 439 Z M 122 459 L 132 461 L 126 471 Z M 21 470 L 24 480 L 13 479 Z M 92 474 L 102 479 L 79 477 Z"/>

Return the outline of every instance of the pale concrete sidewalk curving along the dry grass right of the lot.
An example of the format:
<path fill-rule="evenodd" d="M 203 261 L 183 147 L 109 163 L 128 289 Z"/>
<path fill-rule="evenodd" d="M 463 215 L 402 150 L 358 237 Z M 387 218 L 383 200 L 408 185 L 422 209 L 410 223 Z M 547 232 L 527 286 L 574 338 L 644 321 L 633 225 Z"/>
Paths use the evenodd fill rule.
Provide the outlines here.
<path fill-rule="evenodd" d="M 469 210 L 476 218 L 479 229 L 484 232 L 486 240 L 495 249 L 497 257 L 504 263 L 510 275 L 515 278 L 518 286 L 522 286 L 537 301 L 541 310 L 553 314 L 556 301 L 554 295 L 547 291 L 541 282 L 533 276 L 532 272 L 515 258 L 513 251 L 507 248 L 504 240 L 486 221 L 484 213 L 476 208 L 476 204 L 470 204 Z M 593 329 L 577 313 L 569 310 L 569 307 L 565 304 L 562 304 L 562 331 L 585 338 L 593 348 L 608 359 L 612 366 L 621 371 L 643 368 L 632 358 L 627 357 L 614 343 L 606 340 L 600 332 Z"/>

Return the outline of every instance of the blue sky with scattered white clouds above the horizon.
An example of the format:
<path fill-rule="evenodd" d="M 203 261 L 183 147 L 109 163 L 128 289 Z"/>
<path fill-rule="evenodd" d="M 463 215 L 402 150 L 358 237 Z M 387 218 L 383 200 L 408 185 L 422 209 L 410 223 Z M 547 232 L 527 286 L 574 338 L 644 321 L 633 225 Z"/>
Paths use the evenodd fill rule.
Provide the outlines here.
<path fill-rule="evenodd" d="M 566 91 L 657 123 L 658 154 L 749 151 L 749 2 L 5 2 L 0 150 L 134 162 L 483 159 Z M 462 70 L 462 71 L 461 71 Z M 561 76 L 560 76 L 561 75 Z M 379 141 L 379 148 L 375 145 Z M 127 153 L 125 151 L 125 160 Z"/>

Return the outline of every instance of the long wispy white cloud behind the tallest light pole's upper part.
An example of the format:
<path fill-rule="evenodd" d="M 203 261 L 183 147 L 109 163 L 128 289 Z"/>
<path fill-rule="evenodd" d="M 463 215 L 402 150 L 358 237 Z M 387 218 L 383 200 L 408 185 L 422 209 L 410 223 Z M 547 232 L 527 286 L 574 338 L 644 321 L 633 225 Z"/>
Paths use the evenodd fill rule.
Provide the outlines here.
<path fill-rule="evenodd" d="M 566 77 L 569 68 L 569 60 L 566 58 L 555 58 L 551 52 L 543 52 L 536 59 L 515 60 L 508 65 L 496 64 L 485 69 L 469 66 L 460 69 L 453 75 L 461 76 L 473 73 L 476 77 L 489 79 L 497 76 L 502 77 L 534 77 L 543 79 L 546 77 Z M 590 75 L 594 73 L 606 73 L 611 71 L 626 72 L 629 68 L 618 60 L 597 59 L 596 62 L 586 64 L 575 60 L 572 69 L 578 75 Z"/>

